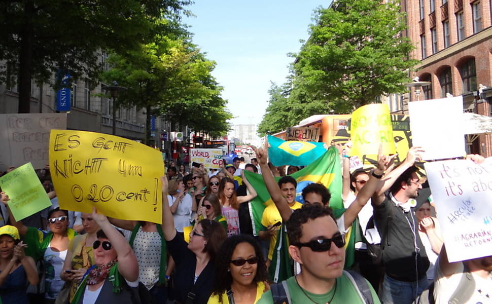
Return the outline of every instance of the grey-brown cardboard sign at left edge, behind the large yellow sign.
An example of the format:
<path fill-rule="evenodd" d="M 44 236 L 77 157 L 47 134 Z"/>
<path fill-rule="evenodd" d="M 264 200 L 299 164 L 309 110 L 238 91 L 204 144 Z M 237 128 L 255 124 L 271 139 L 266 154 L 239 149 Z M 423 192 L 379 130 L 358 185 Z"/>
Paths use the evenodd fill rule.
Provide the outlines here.
<path fill-rule="evenodd" d="M 51 129 L 66 129 L 66 113 L 0 114 L 0 170 L 48 164 Z"/>

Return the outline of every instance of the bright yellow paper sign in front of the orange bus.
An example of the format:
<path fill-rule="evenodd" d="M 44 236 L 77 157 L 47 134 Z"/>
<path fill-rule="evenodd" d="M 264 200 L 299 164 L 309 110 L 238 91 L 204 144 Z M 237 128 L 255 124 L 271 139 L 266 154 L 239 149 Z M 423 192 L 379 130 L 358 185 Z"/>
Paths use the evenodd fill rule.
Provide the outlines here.
<path fill-rule="evenodd" d="M 375 103 L 361 106 L 352 113 L 350 156 L 377 155 L 382 144 L 384 155 L 395 154 L 393 128 L 388 105 Z"/>

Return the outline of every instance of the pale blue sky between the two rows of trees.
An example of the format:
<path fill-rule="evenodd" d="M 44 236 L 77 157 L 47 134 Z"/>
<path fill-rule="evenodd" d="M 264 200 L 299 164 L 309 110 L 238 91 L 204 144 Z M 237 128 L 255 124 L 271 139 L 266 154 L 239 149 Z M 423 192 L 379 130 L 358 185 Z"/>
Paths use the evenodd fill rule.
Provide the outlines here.
<path fill-rule="evenodd" d="M 270 81 L 281 84 L 288 75 L 300 39 L 308 38 L 313 10 L 321 0 L 195 0 L 184 18 L 193 42 L 217 62 L 214 77 L 224 87 L 222 97 L 237 117 L 232 124 L 258 124 L 268 104 Z"/>

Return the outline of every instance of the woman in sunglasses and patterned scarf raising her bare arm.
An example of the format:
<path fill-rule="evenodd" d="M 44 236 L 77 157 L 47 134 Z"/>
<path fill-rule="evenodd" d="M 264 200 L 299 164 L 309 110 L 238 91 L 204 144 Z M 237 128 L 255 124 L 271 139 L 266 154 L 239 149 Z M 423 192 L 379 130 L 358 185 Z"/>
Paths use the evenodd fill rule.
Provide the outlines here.
<path fill-rule="evenodd" d="M 101 227 L 92 245 L 95 265 L 82 279 L 71 303 L 140 303 L 138 261 L 130 245 L 106 216 L 96 213 L 95 207 L 92 218 Z"/>

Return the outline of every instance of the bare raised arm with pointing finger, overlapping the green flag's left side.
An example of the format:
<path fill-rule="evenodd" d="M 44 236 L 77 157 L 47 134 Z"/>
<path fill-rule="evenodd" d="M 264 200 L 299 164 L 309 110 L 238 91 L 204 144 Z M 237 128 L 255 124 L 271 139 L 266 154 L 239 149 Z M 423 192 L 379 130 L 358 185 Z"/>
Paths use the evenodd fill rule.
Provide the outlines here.
<path fill-rule="evenodd" d="M 262 173 L 261 176 L 263 177 L 263 181 L 265 182 L 266 188 L 270 193 L 270 197 L 272 198 L 273 203 L 275 203 L 275 206 L 277 207 L 280 216 L 282 216 L 282 220 L 286 222 L 291 217 L 292 210 L 289 207 L 289 204 L 287 204 L 286 199 L 282 195 L 282 191 L 280 191 L 280 187 L 278 187 L 277 182 L 273 178 L 273 174 L 270 170 L 270 167 L 268 167 L 266 161 L 268 156 L 267 145 L 268 145 L 268 141 L 265 142 L 264 149 L 262 148 L 255 149 L 255 153 L 258 159 L 258 163 L 260 164 L 261 173 Z"/>

